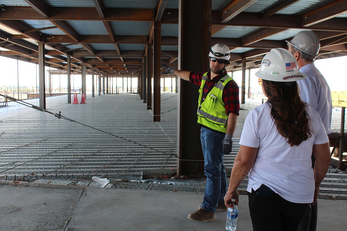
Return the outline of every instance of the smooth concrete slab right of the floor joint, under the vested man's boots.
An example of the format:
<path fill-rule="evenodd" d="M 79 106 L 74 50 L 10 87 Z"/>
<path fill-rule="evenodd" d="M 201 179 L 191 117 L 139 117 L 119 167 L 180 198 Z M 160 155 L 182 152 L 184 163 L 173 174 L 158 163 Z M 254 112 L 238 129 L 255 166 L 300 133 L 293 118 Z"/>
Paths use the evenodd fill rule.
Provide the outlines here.
<path fill-rule="evenodd" d="M 226 212 L 215 213 L 215 220 L 207 223 L 187 218 L 202 198 L 196 193 L 88 187 L 67 230 L 224 230 Z M 237 229 L 252 230 L 247 196 L 241 201 Z"/>

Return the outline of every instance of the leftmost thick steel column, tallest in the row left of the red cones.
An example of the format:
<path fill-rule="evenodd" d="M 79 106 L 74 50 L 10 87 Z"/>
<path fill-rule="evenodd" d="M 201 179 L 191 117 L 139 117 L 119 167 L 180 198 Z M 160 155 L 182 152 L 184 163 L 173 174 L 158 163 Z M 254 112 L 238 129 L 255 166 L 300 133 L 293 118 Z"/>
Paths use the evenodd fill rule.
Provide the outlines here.
<path fill-rule="evenodd" d="M 39 88 L 40 88 L 40 107 L 46 109 L 46 89 L 45 89 L 45 70 L 44 70 L 44 43 L 38 42 L 39 45 Z"/>

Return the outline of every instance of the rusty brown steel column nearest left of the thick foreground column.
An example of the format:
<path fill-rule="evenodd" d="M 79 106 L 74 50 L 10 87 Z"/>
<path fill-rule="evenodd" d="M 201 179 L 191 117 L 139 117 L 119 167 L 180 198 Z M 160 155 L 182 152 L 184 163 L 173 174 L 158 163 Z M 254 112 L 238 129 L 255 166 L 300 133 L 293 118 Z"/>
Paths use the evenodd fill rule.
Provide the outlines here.
<path fill-rule="evenodd" d="M 153 48 L 153 122 L 160 122 L 161 21 L 154 21 Z"/>

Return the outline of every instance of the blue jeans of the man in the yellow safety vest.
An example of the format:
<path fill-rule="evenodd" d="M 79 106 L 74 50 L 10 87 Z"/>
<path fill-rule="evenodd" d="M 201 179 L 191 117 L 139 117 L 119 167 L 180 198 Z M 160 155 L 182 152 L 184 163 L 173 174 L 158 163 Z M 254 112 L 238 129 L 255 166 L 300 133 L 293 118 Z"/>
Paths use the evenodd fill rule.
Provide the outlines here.
<path fill-rule="evenodd" d="M 224 203 L 227 175 L 223 163 L 221 143 L 225 135 L 201 128 L 201 145 L 205 160 L 206 188 L 201 208 L 214 213 L 218 203 Z"/>

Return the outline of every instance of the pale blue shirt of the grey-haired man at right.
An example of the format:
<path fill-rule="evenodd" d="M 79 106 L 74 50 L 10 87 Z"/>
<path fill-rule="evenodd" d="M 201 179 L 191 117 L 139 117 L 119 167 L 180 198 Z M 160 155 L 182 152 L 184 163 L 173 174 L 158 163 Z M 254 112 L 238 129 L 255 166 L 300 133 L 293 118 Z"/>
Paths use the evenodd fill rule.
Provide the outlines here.
<path fill-rule="evenodd" d="M 300 72 L 307 77 L 297 81 L 302 101 L 313 107 L 322 119 L 327 134 L 331 133 L 332 101 L 331 92 L 327 81 L 314 63 L 309 63 Z"/>

